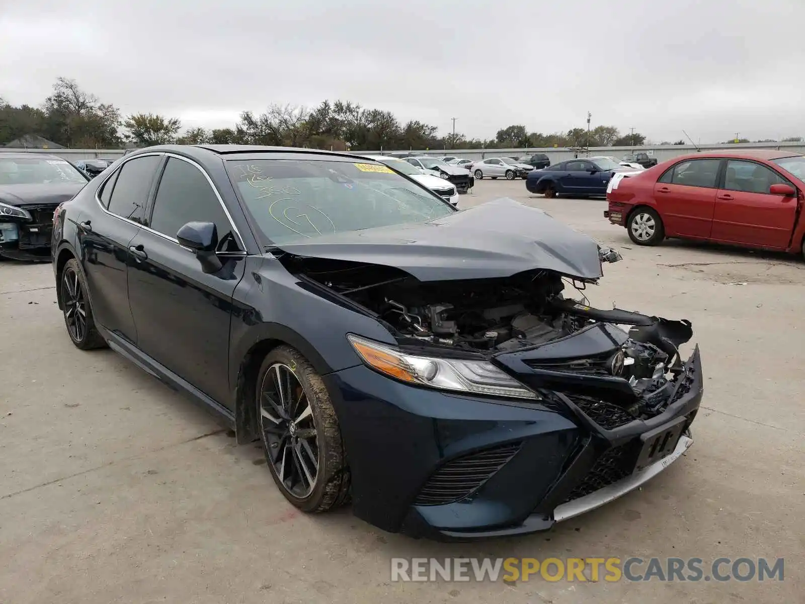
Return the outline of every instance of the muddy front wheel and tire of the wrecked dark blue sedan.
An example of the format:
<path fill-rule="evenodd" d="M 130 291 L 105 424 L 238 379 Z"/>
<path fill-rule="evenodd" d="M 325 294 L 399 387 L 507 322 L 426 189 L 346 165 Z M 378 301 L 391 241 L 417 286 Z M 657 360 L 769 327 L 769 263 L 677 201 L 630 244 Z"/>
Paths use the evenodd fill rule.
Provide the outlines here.
<path fill-rule="evenodd" d="M 285 499 L 328 511 L 349 495 L 341 429 L 327 388 L 299 351 L 279 346 L 263 360 L 257 416 L 266 461 Z"/>

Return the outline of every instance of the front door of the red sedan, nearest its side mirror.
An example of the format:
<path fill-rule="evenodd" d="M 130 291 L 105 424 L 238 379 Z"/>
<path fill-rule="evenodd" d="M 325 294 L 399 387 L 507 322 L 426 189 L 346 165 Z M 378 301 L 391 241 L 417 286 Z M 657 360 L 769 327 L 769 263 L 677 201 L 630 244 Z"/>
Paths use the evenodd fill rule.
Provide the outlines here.
<path fill-rule="evenodd" d="M 794 230 L 797 200 L 771 194 L 770 186 L 779 183 L 791 184 L 762 163 L 728 159 L 724 184 L 716 194 L 712 239 L 786 248 Z"/>

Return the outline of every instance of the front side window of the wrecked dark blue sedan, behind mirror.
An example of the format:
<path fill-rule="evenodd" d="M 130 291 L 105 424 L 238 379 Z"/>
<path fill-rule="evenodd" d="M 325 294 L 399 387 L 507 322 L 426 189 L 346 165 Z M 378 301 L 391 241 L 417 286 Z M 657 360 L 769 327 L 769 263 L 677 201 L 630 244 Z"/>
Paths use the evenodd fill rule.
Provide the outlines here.
<path fill-rule="evenodd" d="M 175 239 L 188 222 L 213 222 L 219 250 L 228 250 L 232 225 L 206 176 L 183 159 L 168 158 L 154 199 L 149 227 Z"/>

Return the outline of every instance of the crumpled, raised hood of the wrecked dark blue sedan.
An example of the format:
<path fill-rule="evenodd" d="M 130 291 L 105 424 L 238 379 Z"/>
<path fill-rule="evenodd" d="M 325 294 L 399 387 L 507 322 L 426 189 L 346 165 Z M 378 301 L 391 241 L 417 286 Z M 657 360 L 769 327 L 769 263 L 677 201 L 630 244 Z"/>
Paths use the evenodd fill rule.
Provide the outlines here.
<path fill-rule="evenodd" d="M 298 256 L 396 267 L 420 281 L 489 279 L 544 269 L 601 277 L 598 244 L 541 209 L 497 199 L 425 223 L 277 245 Z"/>

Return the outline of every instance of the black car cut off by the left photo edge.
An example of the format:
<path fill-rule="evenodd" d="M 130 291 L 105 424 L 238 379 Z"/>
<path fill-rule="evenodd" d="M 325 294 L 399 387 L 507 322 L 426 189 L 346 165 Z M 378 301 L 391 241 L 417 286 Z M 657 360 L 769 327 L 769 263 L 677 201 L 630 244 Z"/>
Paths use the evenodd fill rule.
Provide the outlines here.
<path fill-rule="evenodd" d="M 87 180 L 56 155 L 0 154 L 0 256 L 49 260 L 53 212 Z"/>

